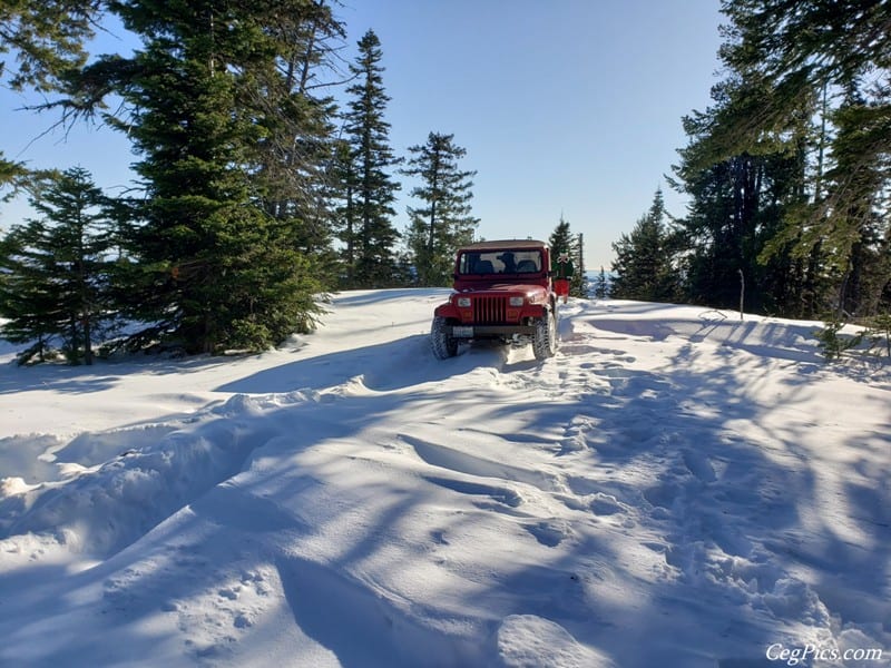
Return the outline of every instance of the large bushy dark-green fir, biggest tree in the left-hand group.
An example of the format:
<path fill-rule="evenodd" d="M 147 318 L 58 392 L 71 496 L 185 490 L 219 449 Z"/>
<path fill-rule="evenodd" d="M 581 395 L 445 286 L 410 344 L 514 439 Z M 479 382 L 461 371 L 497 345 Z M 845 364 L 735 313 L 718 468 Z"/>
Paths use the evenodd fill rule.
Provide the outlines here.
<path fill-rule="evenodd" d="M 117 92 L 129 109 L 126 124 L 109 120 L 141 158 L 146 197 L 129 203 L 125 240 L 130 315 L 154 325 L 143 340 L 189 353 L 262 350 L 309 328 L 316 267 L 295 247 L 293 220 L 256 199 L 258 150 L 281 127 L 260 91 L 272 108 L 287 97 L 272 91 L 282 45 L 271 27 L 306 3 L 112 7 L 144 48 L 97 59 L 72 78 L 70 104 L 94 109 Z M 263 181 L 265 193 L 276 183 Z"/>

